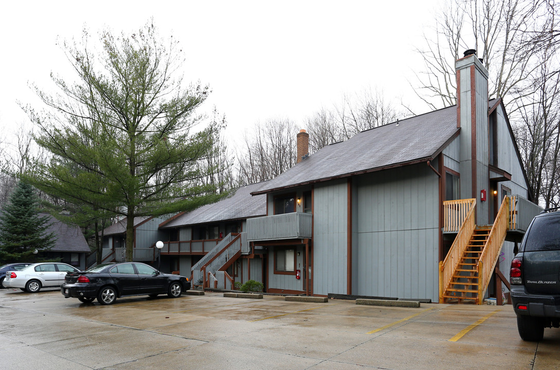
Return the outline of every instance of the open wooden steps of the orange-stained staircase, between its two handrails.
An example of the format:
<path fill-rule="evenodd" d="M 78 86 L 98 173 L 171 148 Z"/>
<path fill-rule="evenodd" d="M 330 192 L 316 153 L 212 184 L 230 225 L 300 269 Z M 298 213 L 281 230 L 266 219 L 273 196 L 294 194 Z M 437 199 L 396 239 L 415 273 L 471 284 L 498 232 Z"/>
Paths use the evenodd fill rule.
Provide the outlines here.
<path fill-rule="evenodd" d="M 452 275 L 451 282 L 443 294 L 445 302 L 477 301 L 478 299 L 478 262 L 484 245 L 488 241 L 492 227 L 477 227 L 473 231 L 457 268 Z"/>

